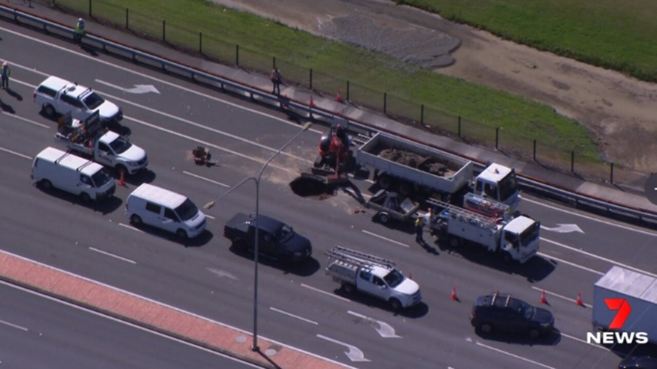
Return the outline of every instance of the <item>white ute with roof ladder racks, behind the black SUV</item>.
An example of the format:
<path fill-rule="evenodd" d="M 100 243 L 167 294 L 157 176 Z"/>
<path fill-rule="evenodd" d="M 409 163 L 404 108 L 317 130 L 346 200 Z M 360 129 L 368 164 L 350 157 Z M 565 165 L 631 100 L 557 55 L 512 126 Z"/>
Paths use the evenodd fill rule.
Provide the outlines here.
<path fill-rule="evenodd" d="M 416 305 L 422 300 L 420 286 L 395 269 L 395 263 L 357 250 L 334 246 L 325 251 L 327 274 L 347 293 L 367 293 L 388 301 L 394 310 Z"/>

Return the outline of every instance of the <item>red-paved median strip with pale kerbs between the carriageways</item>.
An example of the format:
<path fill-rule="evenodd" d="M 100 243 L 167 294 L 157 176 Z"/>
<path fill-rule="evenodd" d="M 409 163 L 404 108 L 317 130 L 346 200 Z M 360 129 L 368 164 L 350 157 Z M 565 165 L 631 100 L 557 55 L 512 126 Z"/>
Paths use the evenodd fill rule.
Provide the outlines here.
<path fill-rule="evenodd" d="M 254 352 L 248 332 L 1 250 L 0 280 L 263 368 L 353 368 L 263 337 Z"/>

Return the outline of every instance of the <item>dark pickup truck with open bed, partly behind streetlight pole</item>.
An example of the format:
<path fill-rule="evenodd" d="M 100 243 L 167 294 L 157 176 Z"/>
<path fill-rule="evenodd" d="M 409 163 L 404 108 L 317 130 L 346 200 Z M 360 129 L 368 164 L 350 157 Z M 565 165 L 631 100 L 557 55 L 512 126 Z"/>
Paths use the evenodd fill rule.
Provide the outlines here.
<path fill-rule="evenodd" d="M 256 216 L 238 213 L 223 227 L 223 236 L 246 251 L 254 251 Z M 265 215 L 258 216 L 258 253 L 275 259 L 296 262 L 313 251 L 310 241 L 289 225 Z"/>

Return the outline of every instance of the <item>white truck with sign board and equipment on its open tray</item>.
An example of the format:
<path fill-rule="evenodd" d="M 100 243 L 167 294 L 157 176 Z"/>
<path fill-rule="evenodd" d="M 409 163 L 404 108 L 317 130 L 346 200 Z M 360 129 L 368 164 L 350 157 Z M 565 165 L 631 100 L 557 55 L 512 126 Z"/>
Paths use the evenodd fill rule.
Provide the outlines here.
<path fill-rule="evenodd" d="M 131 144 L 118 133 L 101 129 L 98 112 L 83 121 L 66 113 L 59 120 L 55 141 L 118 173 L 134 174 L 148 165 L 143 148 Z"/>

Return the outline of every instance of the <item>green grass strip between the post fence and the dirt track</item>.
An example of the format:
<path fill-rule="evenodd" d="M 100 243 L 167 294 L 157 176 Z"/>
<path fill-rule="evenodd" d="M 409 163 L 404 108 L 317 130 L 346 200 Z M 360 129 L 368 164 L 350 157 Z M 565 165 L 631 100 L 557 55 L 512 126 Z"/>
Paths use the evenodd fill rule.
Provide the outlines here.
<path fill-rule="evenodd" d="M 57 0 L 61 7 L 88 12 L 87 0 Z M 598 160 L 597 150 L 578 122 L 556 114 L 553 108 L 522 97 L 442 76 L 358 47 L 315 37 L 246 12 L 217 7 L 204 0 L 93 0 L 95 18 L 125 27 L 128 7 L 133 32 L 162 39 L 166 20 L 169 43 L 198 51 L 198 33 L 203 33 L 203 53 L 235 62 L 235 44 L 240 45 L 240 66 L 269 73 L 277 56 L 286 81 L 308 83 L 313 68 L 313 88 L 334 95 L 346 94 L 350 81 L 351 100 L 382 108 L 388 91 L 388 113 L 420 119 L 455 132 L 457 117 L 463 117 L 463 132 L 474 141 L 494 143 L 495 127 L 503 127 L 505 142 L 531 147 L 533 139 L 558 152 L 576 150 L 578 156 Z M 145 15 L 148 14 L 148 15 Z M 93 33 L 93 26 L 87 26 Z M 476 133 L 476 134 L 475 134 Z M 467 134 L 466 134 L 467 136 Z"/>

